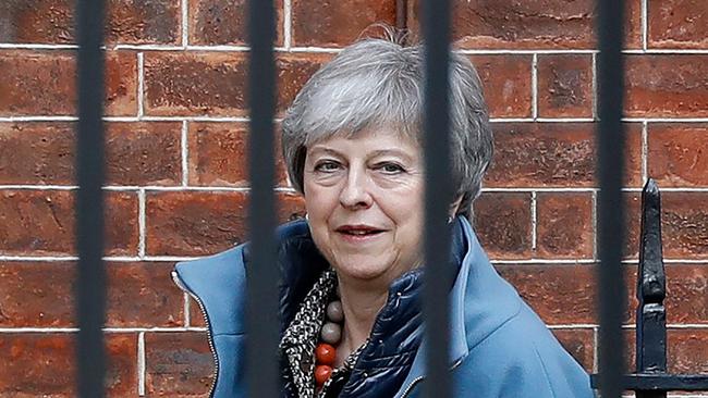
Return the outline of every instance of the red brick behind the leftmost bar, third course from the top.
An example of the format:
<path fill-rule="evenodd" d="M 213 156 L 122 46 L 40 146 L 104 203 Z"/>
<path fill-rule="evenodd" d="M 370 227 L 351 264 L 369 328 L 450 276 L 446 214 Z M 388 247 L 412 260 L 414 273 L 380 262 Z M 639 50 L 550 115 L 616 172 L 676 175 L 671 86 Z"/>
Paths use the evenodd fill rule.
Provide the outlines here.
<path fill-rule="evenodd" d="M 74 123 L 0 123 L 0 184 L 75 184 Z M 178 185 L 180 123 L 107 123 L 109 185 Z"/>

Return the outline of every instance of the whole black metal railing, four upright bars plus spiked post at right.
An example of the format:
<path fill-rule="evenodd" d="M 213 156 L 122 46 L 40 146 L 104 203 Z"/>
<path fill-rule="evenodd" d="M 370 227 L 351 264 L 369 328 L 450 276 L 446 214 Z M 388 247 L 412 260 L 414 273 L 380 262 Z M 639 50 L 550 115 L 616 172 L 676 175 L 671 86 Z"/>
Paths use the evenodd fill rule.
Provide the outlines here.
<path fill-rule="evenodd" d="M 405 2 L 400 2 L 405 3 Z M 637 316 L 637 374 L 622 376 L 622 333 L 624 313 L 624 283 L 621 265 L 624 222 L 622 200 L 622 170 L 624 138 L 622 119 L 623 98 L 623 14 L 622 1 L 598 0 L 597 32 L 599 37 L 599 112 L 597 124 L 599 149 L 599 281 L 600 306 L 600 375 L 595 377 L 603 397 L 620 397 L 623 388 L 636 391 L 658 389 L 708 389 L 706 377 L 666 374 L 666 315 L 663 313 L 663 268 L 660 260 L 660 238 L 657 240 L 658 191 L 645 192 L 646 215 L 643 232 L 643 266 L 640 301 Z M 106 359 L 102 341 L 105 319 L 103 251 L 103 0 L 77 2 L 78 37 L 78 156 L 80 185 L 76 207 L 78 249 L 78 325 L 77 382 L 81 397 L 102 397 Z M 399 20 L 405 13 L 399 11 Z M 445 225 L 445 198 L 451 197 L 448 176 L 448 51 L 450 42 L 450 2 L 426 0 L 423 32 L 426 48 L 426 231 L 425 261 L 427 272 L 424 313 L 428 351 L 429 377 L 425 396 L 451 396 L 448 374 L 448 283 L 435 272 L 443 264 L 449 247 Z M 253 275 L 248 284 L 249 331 L 247 380 L 253 397 L 277 397 L 280 391 L 277 361 L 278 271 L 274 261 L 276 225 L 273 198 L 273 116 L 274 116 L 274 10 L 272 1 L 249 2 L 249 108 L 251 108 L 251 208 L 249 231 L 253 242 Z M 256 156 L 257 153 L 257 156 Z M 443 194 L 441 199 L 440 194 Z M 655 235 L 652 235 L 652 232 Z M 658 246 L 658 251 L 652 251 Z M 659 266 L 660 265 L 660 266 Z M 256 304 L 259 306 L 256 309 Z M 264 355 L 265 353 L 265 355 Z M 599 381 L 599 382 L 598 382 Z M 648 397 L 649 395 L 644 395 Z M 655 397 L 658 395 L 651 395 Z"/>

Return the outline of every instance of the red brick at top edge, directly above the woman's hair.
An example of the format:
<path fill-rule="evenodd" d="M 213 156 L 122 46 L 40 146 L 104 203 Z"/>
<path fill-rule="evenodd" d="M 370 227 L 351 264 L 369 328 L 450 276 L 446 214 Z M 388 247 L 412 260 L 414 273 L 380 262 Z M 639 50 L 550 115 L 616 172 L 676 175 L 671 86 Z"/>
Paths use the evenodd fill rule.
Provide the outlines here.
<path fill-rule="evenodd" d="M 395 2 L 293 0 L 293 46 L 344 47 L 377 33 L 374 24 L 395 25 Z"/>

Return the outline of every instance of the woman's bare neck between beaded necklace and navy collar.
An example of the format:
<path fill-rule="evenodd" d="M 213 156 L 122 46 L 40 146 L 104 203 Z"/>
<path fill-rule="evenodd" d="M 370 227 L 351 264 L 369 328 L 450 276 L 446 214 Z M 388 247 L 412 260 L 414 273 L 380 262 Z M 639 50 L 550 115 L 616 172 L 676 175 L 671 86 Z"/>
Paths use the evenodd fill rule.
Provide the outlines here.
<path fill-rule="evenodd" d="M 338 359 L 346 358 L 361 347 L 371 334 L 374 322 L 386 304 L 389 296 L 388 286 L 371 289 L 370 286 L 357 286 L 339 278 L 340 297 L 344 312 L 344 328 L 338 349 Z"/>

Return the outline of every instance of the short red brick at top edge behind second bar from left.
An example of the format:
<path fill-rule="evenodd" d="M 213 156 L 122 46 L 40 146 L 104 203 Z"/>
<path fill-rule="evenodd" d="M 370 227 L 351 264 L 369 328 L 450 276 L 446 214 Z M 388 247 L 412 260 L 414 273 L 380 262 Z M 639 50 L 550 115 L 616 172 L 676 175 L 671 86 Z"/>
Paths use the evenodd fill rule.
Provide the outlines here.
<path fill-rule="evenodd" d="M 248 43 L 248 8 L 244 0 L 190 0 L 190 43 L 197 46 L 219 46 Z M 274 46 L 283 45 L 283 1 L 276 8 Z"/>

